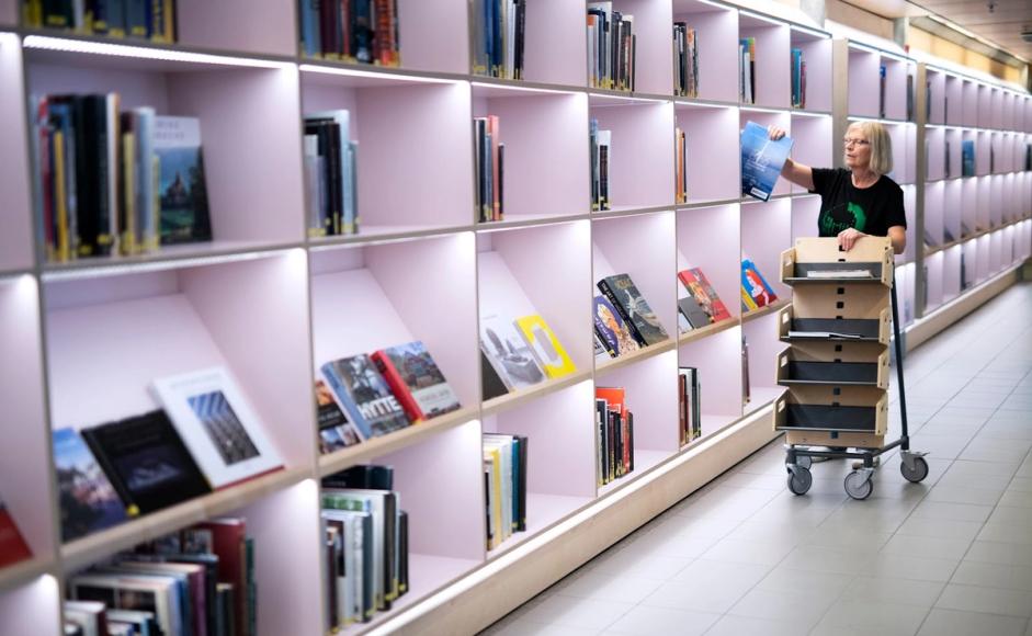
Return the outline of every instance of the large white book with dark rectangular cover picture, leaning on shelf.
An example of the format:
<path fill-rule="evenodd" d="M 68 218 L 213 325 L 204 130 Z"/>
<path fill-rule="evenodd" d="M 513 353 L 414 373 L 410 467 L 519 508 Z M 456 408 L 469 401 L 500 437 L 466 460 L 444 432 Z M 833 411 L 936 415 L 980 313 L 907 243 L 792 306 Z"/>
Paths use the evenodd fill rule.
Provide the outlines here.
<path fill-rule="evenodd" d="M 212 488 L 283 467 L 261 420 L 226 368 L 158 378 L 151 390 Z"/>

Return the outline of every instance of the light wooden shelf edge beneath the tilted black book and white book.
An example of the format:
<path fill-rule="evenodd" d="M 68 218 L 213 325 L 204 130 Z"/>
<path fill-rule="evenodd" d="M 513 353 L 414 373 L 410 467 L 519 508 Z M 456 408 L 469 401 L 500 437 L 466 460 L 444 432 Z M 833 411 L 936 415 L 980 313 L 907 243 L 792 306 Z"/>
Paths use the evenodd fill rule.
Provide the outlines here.
<path fill-rule="evenodd" d="M 78 538 L 61 546 L 61 567 L 66 572 L 78 570 L 118 550 L 157 538 L 192 523 L 243 508 L 262 497 L 290 488 L 310 476 L 310 470 L 304 468 L 279 470 L 227 490 L 184 501 L 171 508 L 127 521 L 115 527 Z"/>

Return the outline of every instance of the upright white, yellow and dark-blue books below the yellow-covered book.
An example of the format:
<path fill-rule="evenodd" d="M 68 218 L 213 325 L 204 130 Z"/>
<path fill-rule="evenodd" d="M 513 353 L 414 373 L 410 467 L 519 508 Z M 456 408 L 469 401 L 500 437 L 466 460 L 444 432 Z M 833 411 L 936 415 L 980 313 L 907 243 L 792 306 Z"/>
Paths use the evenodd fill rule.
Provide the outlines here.
<path fill-rule="evenodd" d="M 487 549 L 497 548 L 515 532 L 526 530 L 528 439 L 485 433 L 484 492 Z"/>

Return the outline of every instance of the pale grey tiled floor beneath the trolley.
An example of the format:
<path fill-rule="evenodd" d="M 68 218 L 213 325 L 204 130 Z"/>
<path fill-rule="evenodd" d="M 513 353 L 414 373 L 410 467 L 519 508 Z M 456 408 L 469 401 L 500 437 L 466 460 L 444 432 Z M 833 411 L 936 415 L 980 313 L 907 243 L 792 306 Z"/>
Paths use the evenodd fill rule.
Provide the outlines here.
<path fill-rule="evenodd" d="M 866 501 L 842 461 L 795 497 L 775 441 L 487 634 L 1032 636 L 1032 283 L 911 352 L 906 382 L 922 484 L 893 453 Z"/>

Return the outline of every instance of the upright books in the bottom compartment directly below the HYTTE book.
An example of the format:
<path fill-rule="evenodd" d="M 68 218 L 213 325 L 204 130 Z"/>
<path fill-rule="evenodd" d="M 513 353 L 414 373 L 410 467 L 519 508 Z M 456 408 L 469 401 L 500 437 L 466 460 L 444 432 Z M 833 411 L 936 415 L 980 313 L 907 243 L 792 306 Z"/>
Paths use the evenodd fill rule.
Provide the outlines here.
<path fill-rule="evenodd" d="M 322 479 L 326 624 L 367 623 L 409 590 L 409 520 L 390 466 L 353 466 Z"/>

